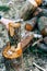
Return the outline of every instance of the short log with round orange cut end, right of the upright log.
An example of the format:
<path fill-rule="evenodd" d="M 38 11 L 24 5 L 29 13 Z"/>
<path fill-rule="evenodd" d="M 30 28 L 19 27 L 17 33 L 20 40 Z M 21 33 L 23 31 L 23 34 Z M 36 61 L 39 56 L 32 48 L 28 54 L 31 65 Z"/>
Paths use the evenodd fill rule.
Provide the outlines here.
<path fill-rule="evenodd" d="M 27 21 L 25 24 L 25 29 L 26 31 L 33 31 L 33 28 L 36 25 L 36 21 L 37 21 L 37 17 L 33 17 L 32 20 Z"/>

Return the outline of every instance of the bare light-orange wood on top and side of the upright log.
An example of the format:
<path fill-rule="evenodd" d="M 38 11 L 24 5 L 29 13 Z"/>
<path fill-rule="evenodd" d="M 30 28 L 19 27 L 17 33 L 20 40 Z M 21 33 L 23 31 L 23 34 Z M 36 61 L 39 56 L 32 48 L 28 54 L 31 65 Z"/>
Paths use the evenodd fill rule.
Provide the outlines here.
<path fill-rule="evenodd" d="M 14 36 L 14 28 L 20 28 L 21 24 L 20 23 L 9 23 L 9 33 L 11 35 L 11 37 Z"/>

